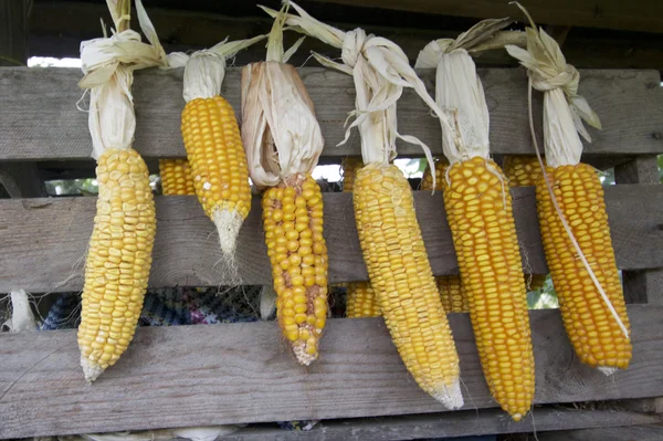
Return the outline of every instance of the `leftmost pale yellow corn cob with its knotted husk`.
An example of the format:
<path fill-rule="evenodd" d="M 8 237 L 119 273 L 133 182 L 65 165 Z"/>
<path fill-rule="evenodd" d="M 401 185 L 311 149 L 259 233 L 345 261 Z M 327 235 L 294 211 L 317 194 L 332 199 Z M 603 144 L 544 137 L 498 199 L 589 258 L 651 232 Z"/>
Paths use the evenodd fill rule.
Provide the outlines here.
<path fill-rule="evenodd" d="M 161 64 L 165 54 L 160 46 L 141 43 L 140 35 L 128 29 L 128 0 L 108 0 L 107 4 L 117 32 L 81 45 L 85 76 L 80 86 L 91 91 L 92 156 L 97 160 L 99 186 L 78 326 L 81 366 L 87 381 L 114 365 L 134 337 L 156 230 L 148 170 L 131 148 L 136 117 L 130 90 L 134 71 Z M 140 27 L 151 27 L 139 0 L 136 8 Z"/>

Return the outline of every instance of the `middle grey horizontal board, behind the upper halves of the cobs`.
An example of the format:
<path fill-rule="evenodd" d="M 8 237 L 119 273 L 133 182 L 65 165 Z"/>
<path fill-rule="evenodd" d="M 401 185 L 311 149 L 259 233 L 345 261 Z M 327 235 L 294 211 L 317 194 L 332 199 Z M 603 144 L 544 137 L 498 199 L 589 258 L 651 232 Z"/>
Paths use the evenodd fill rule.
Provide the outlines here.
<path fill-rule="evenodd" d="M 324 200 L 330 282 L 367 280 L 351 196 L 326 193 Z M 618 266 L 663 266 L 663 230 L 659 228 L 663 223 L 663 187 L 612 186 L 607 189 L 607 203 Z M 433 273 L 457 273 L 442 196 L 419 191 L 415 204 Z M 547 273 L 533 188 L 515 189 L 514 210 L 527 256 L 524 265 L 535 274 Z M 94 212 L 94 198 L 0 201 L 0 292 L 80 290 Z M 217 264 L 220 251 L 214 227 L 194 197 L 157 197 L 157 221 L 151 286 L 213 286 L 228 282 Z M 271 282 L 261 225 L 260 201 L 254 199 L 238 241 L 245 284 Z"/>

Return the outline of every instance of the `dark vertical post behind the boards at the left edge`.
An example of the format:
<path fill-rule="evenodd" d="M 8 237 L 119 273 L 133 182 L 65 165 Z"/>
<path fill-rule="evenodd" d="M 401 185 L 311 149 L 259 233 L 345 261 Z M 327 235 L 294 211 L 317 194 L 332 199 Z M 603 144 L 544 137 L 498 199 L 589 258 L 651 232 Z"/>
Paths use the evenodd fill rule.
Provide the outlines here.
<path fill-rule="evenodd" d="M 28 21 L 32 0 L 0 1 L 0 66 L 28 62 Z M 32 162 L 0 164 L 0 197 L 38 198 L 46 195 L 39 169 Z M 7 196 L 6 196 L 7 195 Z"/>

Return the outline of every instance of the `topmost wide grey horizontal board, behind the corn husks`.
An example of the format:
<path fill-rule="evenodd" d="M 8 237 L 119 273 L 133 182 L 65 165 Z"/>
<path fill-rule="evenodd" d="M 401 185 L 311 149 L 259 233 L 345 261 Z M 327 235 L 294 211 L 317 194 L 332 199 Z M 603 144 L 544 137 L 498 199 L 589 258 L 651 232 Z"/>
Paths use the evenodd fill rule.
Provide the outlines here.
<path fill-rule="evenodd" d="M 345 146 L 344 122 L 354 108 L 355 92 L 348 75 L 318 67 L 299 70 L 316 104 L 326 139 L 325 156 L 358 155 L 359 135 Z M 151 70 L 136 75 L 134 93 L 137 128 L 135 147 L 146 157 L 183 157 L 179 129 L 183 106 L 182 71 Z M 532 154 L 527 125 L 524 70 L 482 70 L 491 109 L 491 143 L 495 154 Z M 223 94 L 240 108 L 240 72 L 230 69 Z M 65 69 L 8 69 L 0 71 L 0 160 L 86 159 L 92 150 L 87 115 L 75 103 L 81 74 Z M 429 87 L 434 74 L 422 72 Z M 593 155 L 642 155 L 663 151 L 663 88 L 653 71 L 583 71 L 580 92 L 601 116 L 603 130 L 590 130 L 594 141 L 586 147 Z M 535 94 L 540 109 L 540 94 Z M 399 129 L 420 137 L 441 153 L 440 125 L 422 101 L 406 91 L 399 103 Z M 624 117 L 628 115 L 628 118 Z M 536 117 L 540 120 L 540 114 Z M 659 135 L 656 135 L 659 134 Z M 421 149 L 401 144 L 401 156 L 421 155 Z"/>

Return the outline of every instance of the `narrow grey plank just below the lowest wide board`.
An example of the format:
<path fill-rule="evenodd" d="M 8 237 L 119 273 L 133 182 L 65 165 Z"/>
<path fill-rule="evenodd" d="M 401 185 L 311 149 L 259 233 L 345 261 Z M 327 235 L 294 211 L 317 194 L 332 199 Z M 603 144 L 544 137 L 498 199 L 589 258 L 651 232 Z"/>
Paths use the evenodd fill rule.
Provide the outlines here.
<path fill-rule="evenodd" d="M 612 428 L 620 426 L 651 424 L 661 422 L 659 416 L 624 410 L 578 410 L 569 408 L 535 408 L 533 418 L 514 422 L 496 409 L 467 410 L 452 413 L 371 418 L 358 420 L 320 421 L 309 431 L 267 428 L 248 428 L 223 437 L 223 441 L 260 441 L 278 439 L 298 441 L 348 440 L 418 440 L 446 437 L 467 437 L 497 433 L 541 432 L 546 430 L 571 430 Z"/>

